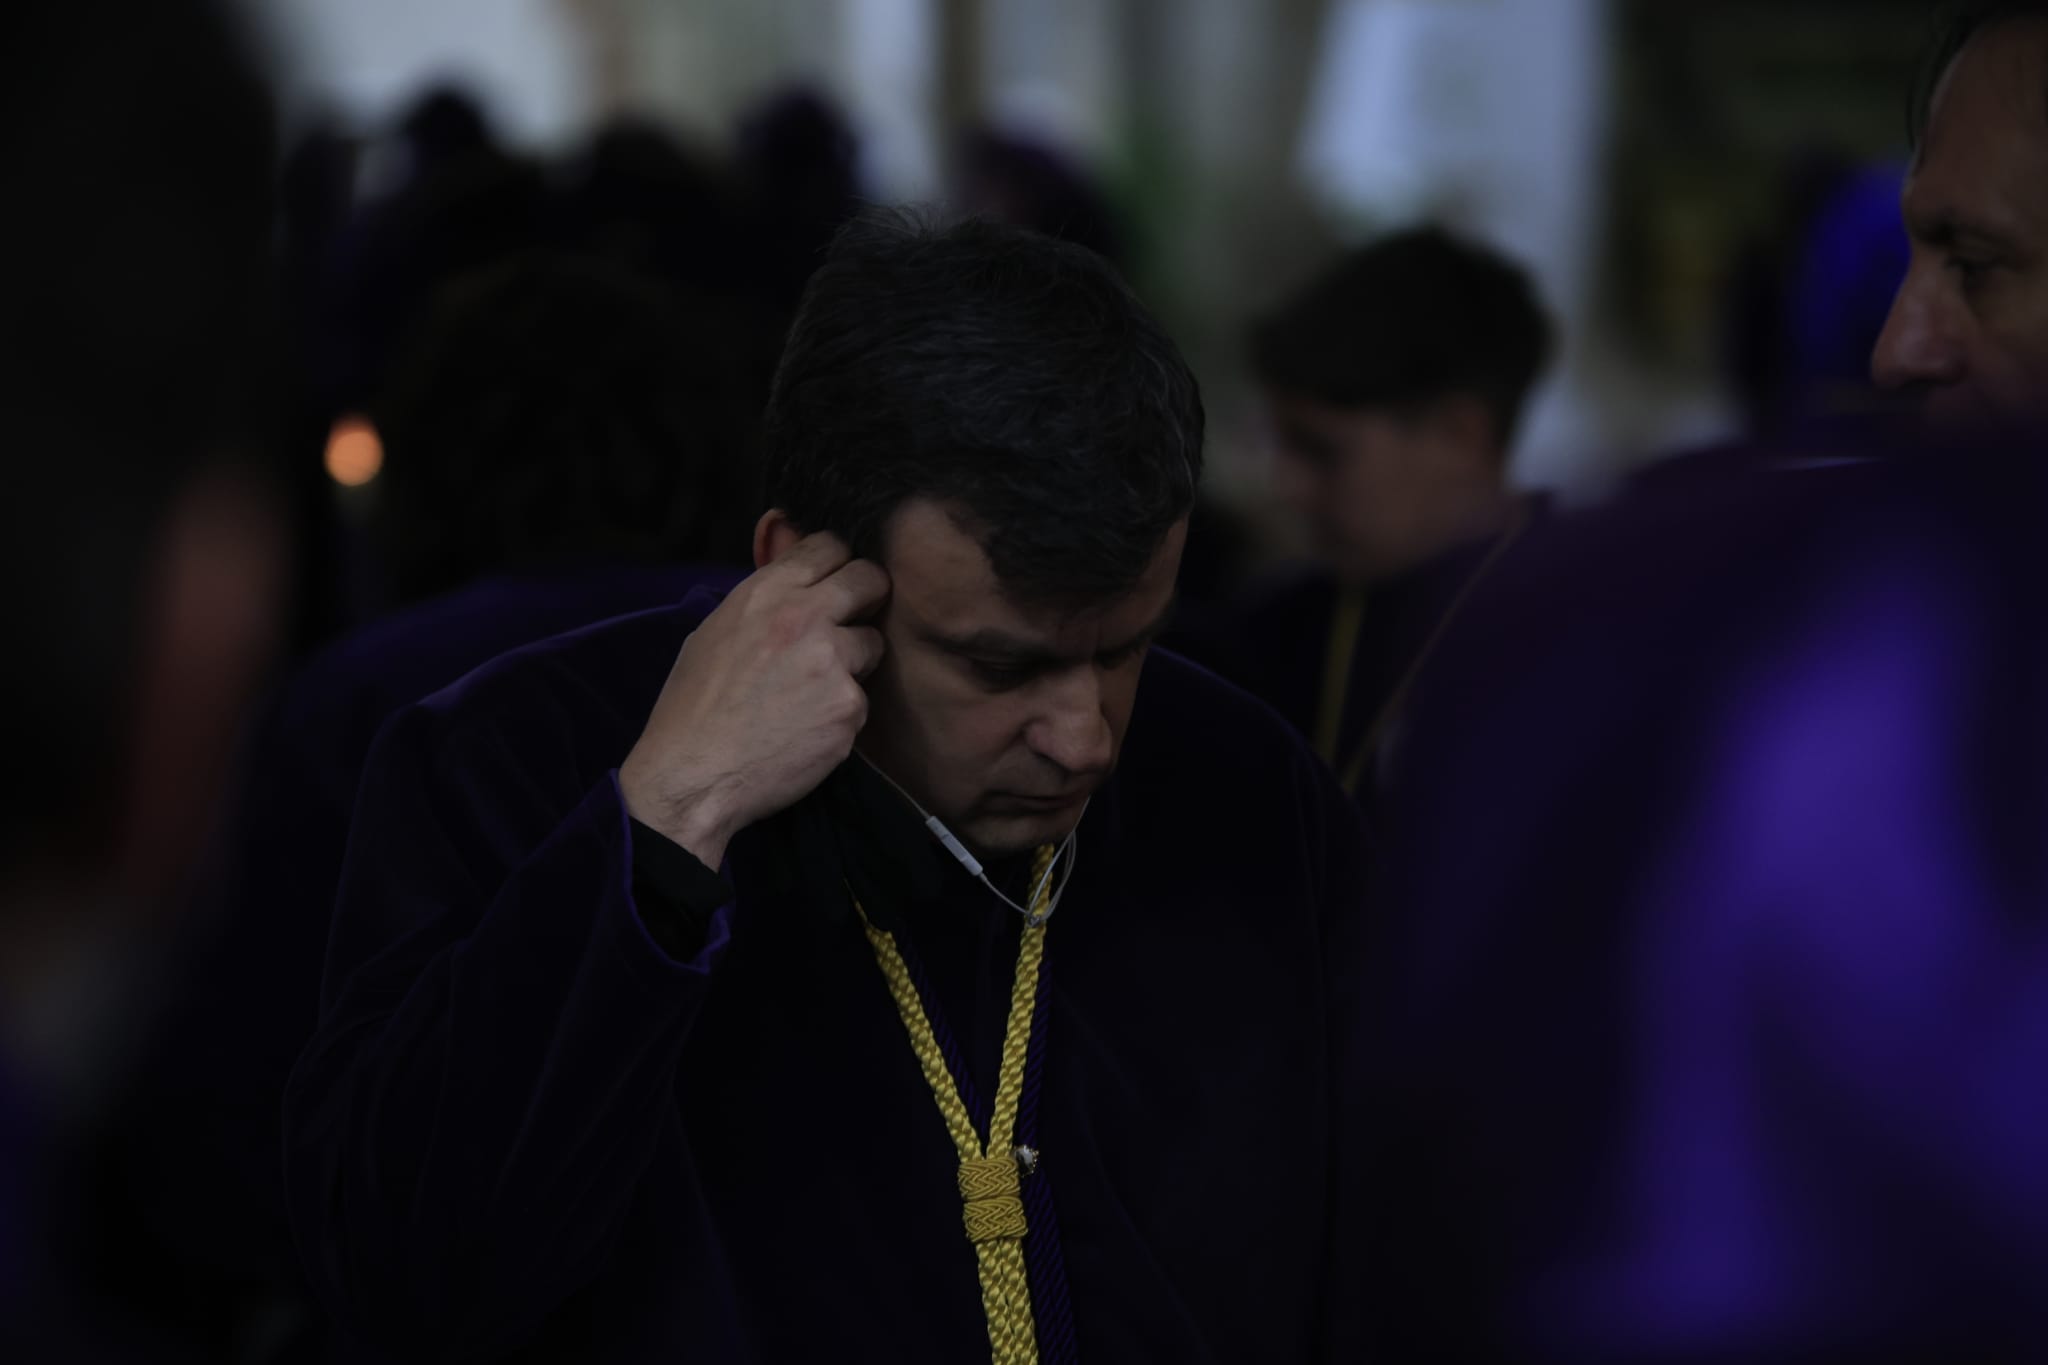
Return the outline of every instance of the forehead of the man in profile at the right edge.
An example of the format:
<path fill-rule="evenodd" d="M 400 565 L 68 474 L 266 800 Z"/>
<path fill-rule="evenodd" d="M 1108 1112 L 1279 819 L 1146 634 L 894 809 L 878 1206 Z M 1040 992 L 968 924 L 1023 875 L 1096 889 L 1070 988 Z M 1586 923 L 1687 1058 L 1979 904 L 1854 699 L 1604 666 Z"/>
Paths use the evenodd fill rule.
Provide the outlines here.
<path fill-rule="evenodd" d="M 2048 239 L 2048 18 L 1978 33 L 1933 96 L 1907 182 L 1907 225 Z"/>

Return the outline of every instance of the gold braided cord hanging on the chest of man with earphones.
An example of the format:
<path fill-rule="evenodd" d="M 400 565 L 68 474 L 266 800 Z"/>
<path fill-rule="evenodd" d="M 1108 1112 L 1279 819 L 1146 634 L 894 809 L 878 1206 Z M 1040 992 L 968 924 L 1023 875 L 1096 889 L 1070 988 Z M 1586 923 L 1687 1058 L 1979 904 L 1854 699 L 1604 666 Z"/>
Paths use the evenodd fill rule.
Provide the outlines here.
<path fill-rule="evenodd" d="M 895 945 L 895 937 L 883 933 L 860 911 L 860 925 L 874 948 L 874 962 L 889 982 L 889 997 L 895 1001 L 903 1029 L 909 1033 L 909 1048 L 918 1056 L 938 1113 L 952 1134 L 952 1146 L 961 1154 L 961 1216 L 967 1224 L 967 1240 L 975 1246 L 975 1261 L 981 1269 L 981 1312 L 989 1320 L 989 1351 L 995 1365 L 1038 1365 L 1038 1336 L 1030 1316 L 1030 1281 L 1024 1275 L 1024 1234 L 1030 1230 L 1024 1220 L 1024 1197 L 1018 1179 L 1016 1126 L 1018 1103 L 1024 1097 L 1024 1058 L 1030 1054 L 1030 1019 L 1038 1001 L 1038 964 L 1044 962 L 1044 898 L 1051 894 L 1047 868 L 1053 864 L 1053 847 L 1044 845 L 1032 857 L 1030 917 L 1024 923 L 1024 939 L 1018 943 L 1018 970 L 1010 986 L 1010 1023 L 1004 1029 L 1004 1060 L 995 1078 L 995 1107 L 989 1111 L 989 1136 L 983 1142 L 975 1136 L 975 1121 L 967 1113 L 952 1072 L 946 1070 L 946 1054 L 932 1031 L 932 1019 L 918 999 L 918 984 L 909 978 L 909 966 Z"/>

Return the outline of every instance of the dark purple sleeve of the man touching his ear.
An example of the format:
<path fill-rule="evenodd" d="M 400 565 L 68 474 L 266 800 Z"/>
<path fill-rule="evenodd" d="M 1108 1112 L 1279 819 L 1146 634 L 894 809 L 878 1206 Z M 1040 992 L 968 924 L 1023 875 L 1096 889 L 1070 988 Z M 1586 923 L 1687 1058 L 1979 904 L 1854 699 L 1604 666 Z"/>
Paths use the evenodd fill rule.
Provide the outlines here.
<path fill-rule="evenodd" d="M 594 1277 L 727 945 L 729 905 L 664 952 L 616 769 L 551 747 L 416 706 L 362 780 L 285 1156 L 315 1291 L 393 1355 L 508 1351 Z"/>

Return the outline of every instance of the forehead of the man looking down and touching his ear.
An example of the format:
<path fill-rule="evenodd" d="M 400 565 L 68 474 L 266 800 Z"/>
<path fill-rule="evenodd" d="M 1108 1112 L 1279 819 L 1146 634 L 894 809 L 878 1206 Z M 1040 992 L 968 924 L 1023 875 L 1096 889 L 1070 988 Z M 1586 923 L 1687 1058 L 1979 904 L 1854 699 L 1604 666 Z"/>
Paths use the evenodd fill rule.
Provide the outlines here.
<path fill-rule="evenodd" d="M 1001 630 L 1047 649 L 1090 651 L 1096 636 L 1153 624 L 1174 600 L 1186 522 L 1167 532 L 1145 573 L 1124 593 L 1079 608 L 1047 608 L 1012 600 L 987 553 L 944 505 L 911 499 L 889 520 L 885 569 L 889 604 L 911 624 L 946 636 Z"/>

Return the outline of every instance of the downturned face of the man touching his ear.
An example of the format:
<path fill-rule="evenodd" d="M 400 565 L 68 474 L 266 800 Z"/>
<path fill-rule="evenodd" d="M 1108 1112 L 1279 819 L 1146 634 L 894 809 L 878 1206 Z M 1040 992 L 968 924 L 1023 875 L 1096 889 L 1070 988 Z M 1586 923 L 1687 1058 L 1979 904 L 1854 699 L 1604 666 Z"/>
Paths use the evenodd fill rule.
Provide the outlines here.
<path fill-rule="evenodd" d="M 940 503 L 905 503 L 883 557 L 887 657 L 860 751 L 983 857 L 1065 837 L 1116 765 L 1184 540 L 1186 522 L 1118 598 L 1032 608 L 1004 596 Z"/>

